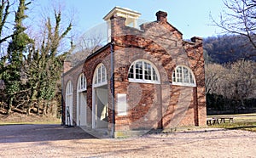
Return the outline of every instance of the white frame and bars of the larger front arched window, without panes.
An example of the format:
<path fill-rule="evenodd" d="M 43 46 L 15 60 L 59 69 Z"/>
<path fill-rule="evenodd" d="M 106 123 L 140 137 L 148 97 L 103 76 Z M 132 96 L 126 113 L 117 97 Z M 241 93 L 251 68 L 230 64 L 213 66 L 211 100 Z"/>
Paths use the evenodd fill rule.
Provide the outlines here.
<path fill-rule="evenodd" d="M 139 74 L 139 75 L 142 75 L 143 76 L 143 79 L 137 79 L 136 78 L 136 64 L 138 62 L 142 62 L 142 72 L 143 74 Z M 145 79 L 145 65 L 148 64 L 150 65 L 150 78 L 151 80 L 148 80 L 148 79 Z M 133 69 L 133 78 L 129 78 L 129 75 L 130 75 L 130 71 L 131 71 L 131 68 Z M 155 72 L 155 76 L 157 77 L 157 80 L 154 80 L 154 73 Z M 129 71 L 128 71 L 128 80 L 129 82 L 140 82 L 140 83 L 153 83 L 153 84 L 160 84 L 160 74 L 159 74 L 159 71 L 157 70 L 157 68 L 155 67 L 155 65 L 153 63 L 151 63 L 150 61 L 148 60 L 145 60 L 145 59 L 137 59 L 135 60 L 130 68 L 129 68 Z"/>

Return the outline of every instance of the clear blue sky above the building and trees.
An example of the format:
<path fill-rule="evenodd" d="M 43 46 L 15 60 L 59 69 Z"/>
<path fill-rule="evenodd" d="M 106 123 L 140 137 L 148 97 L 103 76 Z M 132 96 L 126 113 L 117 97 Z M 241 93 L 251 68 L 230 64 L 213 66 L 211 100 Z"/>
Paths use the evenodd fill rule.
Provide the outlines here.
<path fill-rule="evenodd" d="M 53 1 L 40 0 L 40 7 Z M 218 20 L 224 9 L 222 0 L 59 0 L 68 11 L 75 10 L 75 29 L 83 33 L 104 22 L 102 18 L 115 6 L 131 8 L 141 13 L 141 19 L 154 21 L 159 10 L 168 13 L 168 21 L 183 33 L 183 38 L 217 36 L 221 31 L 212 26 L 209 17 Z M 39 3 L 39 2 L 38 2 Z M 72 12 L 72 11 L 71 11 Z"/>

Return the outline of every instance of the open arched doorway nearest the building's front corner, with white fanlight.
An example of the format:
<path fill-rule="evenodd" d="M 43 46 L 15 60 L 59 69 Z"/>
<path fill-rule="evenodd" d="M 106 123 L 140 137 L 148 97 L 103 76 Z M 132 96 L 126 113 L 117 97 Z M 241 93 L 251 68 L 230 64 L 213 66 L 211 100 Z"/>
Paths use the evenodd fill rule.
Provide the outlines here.
<path fill-rule="evenodd" d="M 97 65 L 93 76 L 92 128 L 108 127 L 108 81 L 107 70 Z"/>

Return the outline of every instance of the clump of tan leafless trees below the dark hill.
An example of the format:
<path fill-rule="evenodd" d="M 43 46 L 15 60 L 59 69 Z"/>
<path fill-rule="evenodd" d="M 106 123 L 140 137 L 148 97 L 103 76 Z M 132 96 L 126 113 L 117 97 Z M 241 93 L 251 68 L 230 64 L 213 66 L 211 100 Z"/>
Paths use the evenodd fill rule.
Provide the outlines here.
<path fill-rule="evenodd" d="M 233 109 L 246 106 L 246 99 L 256 98 L 256 63 L 252 60 L 237 60 L 225 65 L 206 65 L 206 89 L 212 94 L 214 104 L 221 97 L 223 109 L 235 102 Z"/>

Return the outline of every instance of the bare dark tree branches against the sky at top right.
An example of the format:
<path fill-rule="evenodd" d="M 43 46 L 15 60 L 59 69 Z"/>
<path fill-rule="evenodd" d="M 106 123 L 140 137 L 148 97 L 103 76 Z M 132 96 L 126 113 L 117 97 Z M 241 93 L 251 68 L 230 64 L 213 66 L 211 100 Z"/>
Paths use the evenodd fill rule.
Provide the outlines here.
<path fill-rule="evenodd" d="M 256 48 L 256 0 L 223 0 L 227 11 L 220 14 L 219 21 L 212 21 L 227 33 L 247 37 Z M 250 54 L 256 56 L 255 52 Z"/>

